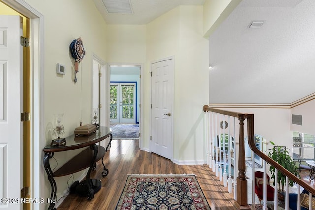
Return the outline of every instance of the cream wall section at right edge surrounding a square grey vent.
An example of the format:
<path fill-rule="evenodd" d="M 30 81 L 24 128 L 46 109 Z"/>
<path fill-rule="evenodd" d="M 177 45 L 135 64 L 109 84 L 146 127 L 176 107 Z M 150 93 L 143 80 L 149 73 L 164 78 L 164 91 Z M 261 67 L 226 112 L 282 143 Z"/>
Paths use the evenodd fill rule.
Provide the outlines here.
<path fill-rule="evenodd" d="M 291 125 L 291 131 L 299 131 L 302 133 L 315 135 L 315 114 L 313 112 L 314 107 L 315 100 L 313 99 L 291 109 L 291 114 L 302 115 L 302 125 L 292 124 L 292 119 L 290 115 L 289 122 Z"/>

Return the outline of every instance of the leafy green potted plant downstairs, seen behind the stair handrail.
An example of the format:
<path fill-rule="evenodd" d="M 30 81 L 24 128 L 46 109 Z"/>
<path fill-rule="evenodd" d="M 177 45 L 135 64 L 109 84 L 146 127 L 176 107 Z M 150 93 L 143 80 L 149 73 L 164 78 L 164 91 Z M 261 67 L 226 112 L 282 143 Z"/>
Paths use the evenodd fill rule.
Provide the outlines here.
<path fill-rule="evenodd" d="M 272 149 L 269 149 L 268 156 L 282 165 L 285 169 L 290 171 L 295 176 L 299 177 L 299 170 L 298 167 L 295 165 L 292 157 L 289 155 L 289 152 L 286 150 L 286 147 L 281 147 L 275 145 L 275 143 L 270 142 L 274 147 Z M 274 179 L 273 184 L 275 184 L 275 167 L 270 166 L 269 172 L 271 173 L 271 178 Z M 278 170 L 278 190 L 284 191 L 284 184 L 286 182 L 286 177 L 284 174 L 281 173 L 281 171 Z M 294 182 L 292 180 L 289 180 L 289 186 L 293 186 Z M 281 188 L 280 188 L 281 187 Z"/>

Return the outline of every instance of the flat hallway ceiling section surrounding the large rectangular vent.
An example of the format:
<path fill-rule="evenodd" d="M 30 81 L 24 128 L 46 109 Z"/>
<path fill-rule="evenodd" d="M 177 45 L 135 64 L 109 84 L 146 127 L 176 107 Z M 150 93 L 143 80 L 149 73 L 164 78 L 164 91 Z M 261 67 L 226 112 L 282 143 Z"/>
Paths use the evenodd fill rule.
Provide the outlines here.
<path fill-rule="evenodd" d="M 105 0 L 119 1 L 126 0 Z M 107 24 L 147 24 L 179 5 L 203 5 L 205 0 L 129 0 L 132 14 L 108 13 L 102 0 L 94 0 Z"/>

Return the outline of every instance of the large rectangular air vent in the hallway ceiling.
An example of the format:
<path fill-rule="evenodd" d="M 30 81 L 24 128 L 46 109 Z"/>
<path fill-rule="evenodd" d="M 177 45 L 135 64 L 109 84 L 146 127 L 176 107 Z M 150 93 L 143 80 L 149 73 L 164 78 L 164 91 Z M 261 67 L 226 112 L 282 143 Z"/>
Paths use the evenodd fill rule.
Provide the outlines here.
<path fill-rule="evenodd" d="M 108 13 L 133 13 L 129 0 L 102 0 Z"/>

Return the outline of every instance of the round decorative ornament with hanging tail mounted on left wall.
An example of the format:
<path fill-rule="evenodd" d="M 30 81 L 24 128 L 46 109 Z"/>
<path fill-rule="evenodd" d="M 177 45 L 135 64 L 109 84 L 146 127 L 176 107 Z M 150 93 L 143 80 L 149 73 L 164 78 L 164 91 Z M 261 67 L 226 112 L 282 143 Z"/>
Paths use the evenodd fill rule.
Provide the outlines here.
<path fill-rule="evenodd" d="M 78 39 L 74 39 L 70 44 L 70 52 L 72 57 L 74 58 L 74 82 L 77 82 L 76 74 L 79 72 L 79 62 L 82 61 L 85 50 L 83 47 L 83 42 L 81 37 Z"/>

